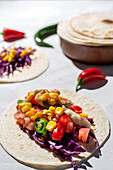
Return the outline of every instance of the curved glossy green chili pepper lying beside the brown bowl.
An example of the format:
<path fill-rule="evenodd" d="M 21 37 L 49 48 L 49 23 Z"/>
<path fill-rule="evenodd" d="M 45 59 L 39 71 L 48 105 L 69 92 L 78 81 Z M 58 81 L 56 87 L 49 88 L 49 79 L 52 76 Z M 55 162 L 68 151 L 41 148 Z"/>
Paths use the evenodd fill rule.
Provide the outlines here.
<path fill-rule="evenodd" d="M 39 46 L 43 46 L 43 47 L 53 48 L 52 45 L 45 43 L 43 40 L 53 34 L 56 34 L 56 30 L 57 30 L 57 24 L 51 25 L 51 26 L 48 26 L 48 27 L 45 27 L 39 30 L 34 36 L 36 44 Z"/>

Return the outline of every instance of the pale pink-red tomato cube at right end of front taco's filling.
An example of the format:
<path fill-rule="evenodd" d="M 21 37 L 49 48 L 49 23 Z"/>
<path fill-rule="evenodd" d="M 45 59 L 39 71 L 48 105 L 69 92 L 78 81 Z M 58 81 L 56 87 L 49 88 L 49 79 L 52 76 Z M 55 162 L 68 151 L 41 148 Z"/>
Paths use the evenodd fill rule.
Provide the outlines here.
<path fill-rule="evenodd" d="M 89 128 L 81 128 L 79 130 L 79 135 L 78 135 L 79 140 L 82 140 L 84 143 L 86 143 L 88 140 L 89 131 L 90 131 Z"/>

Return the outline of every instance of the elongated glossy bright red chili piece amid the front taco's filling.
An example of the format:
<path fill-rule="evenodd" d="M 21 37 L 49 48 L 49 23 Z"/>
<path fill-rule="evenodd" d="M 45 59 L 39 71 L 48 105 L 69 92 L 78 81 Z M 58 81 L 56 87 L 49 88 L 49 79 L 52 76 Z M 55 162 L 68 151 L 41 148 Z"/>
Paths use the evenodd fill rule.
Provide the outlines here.
<path fill-rule="evenodd" d="M 68 117 L 63 115 L 60 117 L 57 128 L 54 129 L 52 134 L 53 140 L 61 140 L 65 133 L 65 128 L 68 123 Z"/>

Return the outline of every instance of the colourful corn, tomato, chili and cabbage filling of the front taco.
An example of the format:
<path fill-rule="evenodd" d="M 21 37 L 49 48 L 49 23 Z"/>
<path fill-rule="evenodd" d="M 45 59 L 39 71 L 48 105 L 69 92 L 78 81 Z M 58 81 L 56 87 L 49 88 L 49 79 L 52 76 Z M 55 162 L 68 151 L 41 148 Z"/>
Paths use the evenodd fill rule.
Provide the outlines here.
<path fill-rule="evenodd" d="M 14 118 L 20 129 L 41 147 L 71 161 L 72 167 L 79 167 L 73 156 L 87 151 L 83 146 L 88 145 L 90 136 L 98 149 L 93 118 L 81 106 L 62 97 L 57 89 L 28 92 L 25 99 L 18 100 L 16 109 Z"/>

